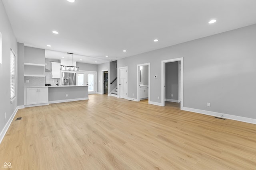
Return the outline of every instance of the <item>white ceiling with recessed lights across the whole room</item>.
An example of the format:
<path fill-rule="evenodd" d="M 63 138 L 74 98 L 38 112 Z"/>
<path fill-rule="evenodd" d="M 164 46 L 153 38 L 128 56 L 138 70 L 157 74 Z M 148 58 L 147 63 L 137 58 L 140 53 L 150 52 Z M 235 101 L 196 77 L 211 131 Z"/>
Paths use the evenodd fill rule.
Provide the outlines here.
<path fill-rule="evenodd" d="M 18 42 L 60 51 L 65 56 L 67 52 L 74 53 L 84 63 L 98 60 L 94 64 L 256 23 L 256 0 L 2 2 Z M 209 24 L 211 19 L 217 22 Z M 53 34 L 53 30 L 59 34 Z M 154 39 L 159 41 L 154 42 Z M 52 47 L 47 47 L 48 44 Z M 122 52 L 124 49 L 126 53 Z"/>

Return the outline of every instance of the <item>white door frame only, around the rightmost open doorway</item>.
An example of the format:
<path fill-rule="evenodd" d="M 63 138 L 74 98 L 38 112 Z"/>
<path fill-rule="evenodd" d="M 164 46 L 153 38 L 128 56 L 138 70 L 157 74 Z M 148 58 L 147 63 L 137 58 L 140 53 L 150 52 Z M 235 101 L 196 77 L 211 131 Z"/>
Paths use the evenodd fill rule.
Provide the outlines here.
<path fill-rule="evenodd" d="M 171 63 L 175 61 L 180 61 L 180 109 L 183 110 L 183 57 L 169 60 L 161 61 L 161 106 L 164 106 L 164 96 L 165 96 L 165 63 Z"/>

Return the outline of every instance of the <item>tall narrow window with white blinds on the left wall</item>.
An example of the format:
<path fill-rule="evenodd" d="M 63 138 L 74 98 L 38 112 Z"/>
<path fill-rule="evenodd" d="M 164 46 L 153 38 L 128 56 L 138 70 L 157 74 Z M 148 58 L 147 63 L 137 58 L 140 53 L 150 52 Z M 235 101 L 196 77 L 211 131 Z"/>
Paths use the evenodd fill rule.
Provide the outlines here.
<path fill-rule="evenodd" d="M 11 59 L 11 102 L 14 102 L 14 100 L 15 100 L 15 54 L 14 54 L 14 52 L 12 51 L 12 49 L 11 49 L 11 57 L 10 57 L 10 59 Z"/>

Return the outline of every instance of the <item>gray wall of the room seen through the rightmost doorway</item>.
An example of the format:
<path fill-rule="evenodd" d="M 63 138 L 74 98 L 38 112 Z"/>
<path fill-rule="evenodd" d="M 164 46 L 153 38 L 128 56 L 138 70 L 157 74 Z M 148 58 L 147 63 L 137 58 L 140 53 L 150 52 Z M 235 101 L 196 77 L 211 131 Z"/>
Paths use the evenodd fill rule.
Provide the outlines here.
<path fill-rule="evenodd" d="M 165 98 L 178 100 L 178 61 L 165 64 Z M 173 96 L 171 96 L 171 94 Z"/>

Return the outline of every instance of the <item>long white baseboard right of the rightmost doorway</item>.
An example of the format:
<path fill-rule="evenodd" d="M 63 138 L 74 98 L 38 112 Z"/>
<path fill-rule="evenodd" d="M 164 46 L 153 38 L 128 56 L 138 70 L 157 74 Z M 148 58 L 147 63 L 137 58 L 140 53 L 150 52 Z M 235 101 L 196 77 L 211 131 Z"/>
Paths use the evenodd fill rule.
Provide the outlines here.
<path fill-rule="evenodd" d="M 252 118 L 248 118 L 248 117 L 229 115 L 229 114 L 218 113 L 218 112 L 214 112 L 214 111 L 193 109 L 193 108 L 189 108 L 189 107 L 183 107 L 183 110 L 192 111 L 192 112 L 195 112 L 195 113 L 201 113 L 201 114 L 204 114 L 204 115 L 211 115 L 211 116 L 214 116 L 214 117 L 222 117 L 222 118 L 225 118 L 225 119 L 231 119 L 231 120 L 256 124 L 256 119 L 252 119 Z"/>

